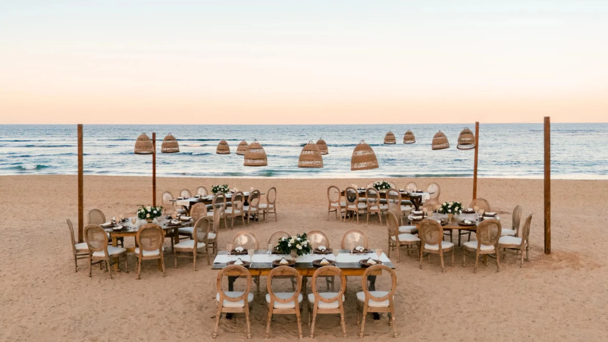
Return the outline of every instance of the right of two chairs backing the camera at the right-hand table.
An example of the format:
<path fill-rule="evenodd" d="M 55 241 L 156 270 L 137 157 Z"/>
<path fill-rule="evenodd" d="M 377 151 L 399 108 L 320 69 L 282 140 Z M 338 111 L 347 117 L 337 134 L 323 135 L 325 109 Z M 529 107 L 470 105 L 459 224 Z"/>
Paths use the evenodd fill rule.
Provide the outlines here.
<path fill-rule="evenodd" d="M 466 252 L 475 252 L 475 268 L 473 273 L 477 273 L 477 262 L 479 256 L 483 255 L 486 266 L 488 265 L 488 255 L 496 255 L 496 272 L 500 272 L 500 248 L 498 241 L 500 238 L 500 222 L 495 219 L 485 219 L 477 226 L 477 241 L 467 241 L 463 244 L 462 267 L 466 267 Z"/>

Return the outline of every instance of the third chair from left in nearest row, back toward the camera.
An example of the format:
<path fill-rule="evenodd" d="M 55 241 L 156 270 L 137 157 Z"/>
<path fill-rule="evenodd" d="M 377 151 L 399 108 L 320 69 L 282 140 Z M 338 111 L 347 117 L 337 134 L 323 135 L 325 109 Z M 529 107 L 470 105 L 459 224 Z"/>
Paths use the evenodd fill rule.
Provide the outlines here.
<path fill-rule="evenodd" d="M 319 292 L 317 290 L 317 278 L 319 277 L 339 277 L 340 290 L 338 292 Z M 346 292 L 346 276 L 340 268 L 336 266 L 323 266 L 313 274 L 312 293 L 308 297 L 308 326 L 310 327 L 310 338 L 314 338 L 314 326 L 317 321 L 317 314 L 340 314 L 340 324 L 342 325 L 342 335 L 347 338 L 346 323 L 344 321 L 344 293 Z M 311 326 L 312 318 L 312 326 Z"/>

